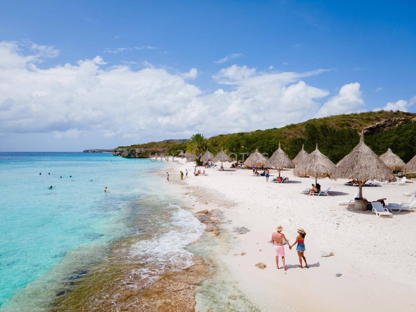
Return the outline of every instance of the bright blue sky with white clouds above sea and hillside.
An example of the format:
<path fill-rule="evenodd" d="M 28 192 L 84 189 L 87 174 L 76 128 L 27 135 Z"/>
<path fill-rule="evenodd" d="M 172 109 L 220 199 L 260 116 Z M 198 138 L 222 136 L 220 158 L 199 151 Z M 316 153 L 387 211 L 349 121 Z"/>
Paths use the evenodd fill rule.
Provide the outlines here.
<path fill-rule="evenodd" d="M 414 112 L 415 8 L 375 1 L 2 2 L 0 150 L 112 148 L 351 111 Z M 250 111 L 254 103 L 262 109 Z M 280 113 L 268 114 L 273 108 Z"/>

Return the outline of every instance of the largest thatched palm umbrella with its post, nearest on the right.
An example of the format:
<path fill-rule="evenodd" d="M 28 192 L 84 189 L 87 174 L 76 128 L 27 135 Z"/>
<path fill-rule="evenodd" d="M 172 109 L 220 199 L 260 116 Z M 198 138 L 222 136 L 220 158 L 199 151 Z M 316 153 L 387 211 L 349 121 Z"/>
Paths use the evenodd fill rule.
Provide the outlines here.
<path fill-rule="evenodd" d="M 363 198 L 362 186 L 369 180 L 396 181 L 390 168 L 364 143 L 364 131 L 360 142 L 347 156 L 337 164 L 333 179 L 352 179 L 359 186 L 359 199 Z"/>

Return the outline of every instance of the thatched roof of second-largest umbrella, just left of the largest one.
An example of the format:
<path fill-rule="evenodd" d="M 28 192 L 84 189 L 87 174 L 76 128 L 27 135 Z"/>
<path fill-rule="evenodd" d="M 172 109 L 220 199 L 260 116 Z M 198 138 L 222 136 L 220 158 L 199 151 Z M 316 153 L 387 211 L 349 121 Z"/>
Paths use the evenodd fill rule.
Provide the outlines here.
<path fill-rule="evenodd" d="M 316 149 L 301 163 L 298 163 L 293 174 L 295 176 L 313 176 L 315 178 L 330 177 L 335 171 L 335 165 L 327 156 L 322 154 L 316 144 Z"/>

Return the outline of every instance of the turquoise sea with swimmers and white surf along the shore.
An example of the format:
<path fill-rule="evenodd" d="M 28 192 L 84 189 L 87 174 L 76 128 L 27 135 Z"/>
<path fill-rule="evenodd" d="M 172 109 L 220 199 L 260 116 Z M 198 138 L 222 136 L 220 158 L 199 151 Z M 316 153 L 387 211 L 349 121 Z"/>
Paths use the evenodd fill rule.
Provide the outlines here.
<path fill-rule="evenodd" d="M 164 192 L 156 173 L 168 166 L 106 153 L 0 153 L 0 310 L 49 311 L 78 280 L 96 287 L 97 303 L 109 280 L 146 287 L 192 265 L 185 247 L 204 225 Z M 114 267 L 125 274 L 114 277 Z"/>

